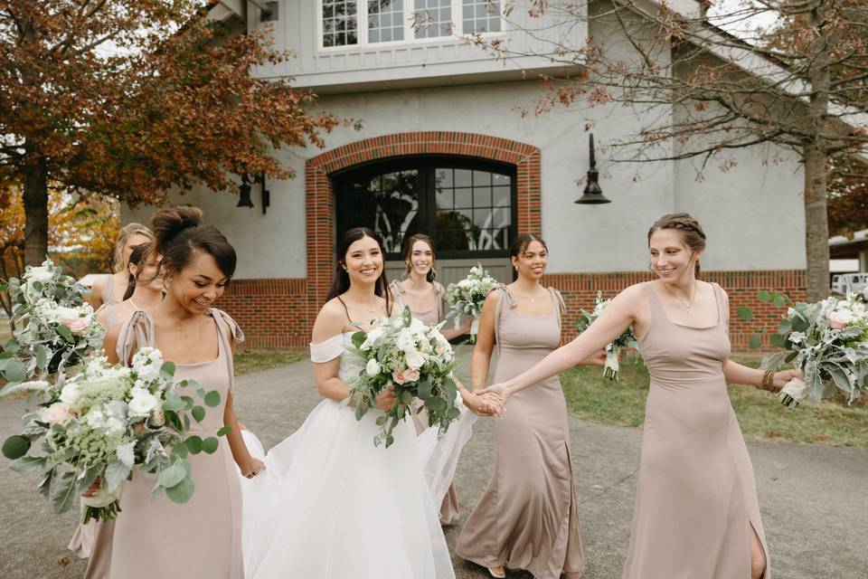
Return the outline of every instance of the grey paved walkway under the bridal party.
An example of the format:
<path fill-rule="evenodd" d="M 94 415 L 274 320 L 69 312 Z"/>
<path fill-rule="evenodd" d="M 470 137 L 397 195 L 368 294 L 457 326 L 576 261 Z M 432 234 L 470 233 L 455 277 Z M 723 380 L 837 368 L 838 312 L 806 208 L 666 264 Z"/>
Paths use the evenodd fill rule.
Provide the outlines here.
<path fill-rule="evenodd" d="M 238 379 L 239 417 L 266 448 L 294 432 L 319 401 L 308 362 Z M 17 432 L 24 408 L 24 401 L 0 402 L 2 439 Z M 626 556 L 642 433 L 576 418 L 570 425 L 587 576 L 618 579 Z M 462 520 L 446 529 L 450 547 L 491 476 L 493 445 L 491 422 L 476 422 L 474 436 L 458 464 Z M 868 450 L 785 443 L 748 447 L 775 579 L 868 576 Z M 34 489 L 35 477 L 18 475 L 7 464 L 8 460 L 0 458 L 0 577 L 80 577 L 83 562 L 65 548 L 76 514 L 52 515 Z M 462 579 L 488 576 L 484 569 L 458 558 L 455 570 Z M 509 576 L 531 577 L 518 572 Z"/>

